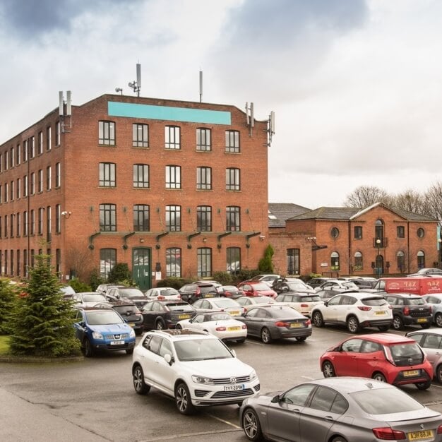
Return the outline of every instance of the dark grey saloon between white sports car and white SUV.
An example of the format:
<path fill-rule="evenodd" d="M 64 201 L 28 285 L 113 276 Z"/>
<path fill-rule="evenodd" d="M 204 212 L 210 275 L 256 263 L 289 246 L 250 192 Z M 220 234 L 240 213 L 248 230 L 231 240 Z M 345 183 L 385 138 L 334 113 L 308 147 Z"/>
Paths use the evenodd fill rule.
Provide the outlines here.
<path fill-rule="evenodd" d="M 247 335 L 261 338 L 264 344 L 283 338 L 304 341 L 311 335 L 311 321 L 287 306 L 254 306 L 241 321 L 247 325 Z"/>

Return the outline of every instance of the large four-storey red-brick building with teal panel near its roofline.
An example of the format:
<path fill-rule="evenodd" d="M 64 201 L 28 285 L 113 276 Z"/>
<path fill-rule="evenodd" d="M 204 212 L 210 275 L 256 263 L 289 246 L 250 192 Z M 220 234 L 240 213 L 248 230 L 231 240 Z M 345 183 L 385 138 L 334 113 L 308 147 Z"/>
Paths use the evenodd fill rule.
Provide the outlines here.
<path fill-rule="evenodd" d="M 0 146 L 1 274 L 25 277 L 37 253 L 61 280 L 128 263 L 143 289 L 257 268 L 269 130 L 230 105 L 61 95 Z"/>

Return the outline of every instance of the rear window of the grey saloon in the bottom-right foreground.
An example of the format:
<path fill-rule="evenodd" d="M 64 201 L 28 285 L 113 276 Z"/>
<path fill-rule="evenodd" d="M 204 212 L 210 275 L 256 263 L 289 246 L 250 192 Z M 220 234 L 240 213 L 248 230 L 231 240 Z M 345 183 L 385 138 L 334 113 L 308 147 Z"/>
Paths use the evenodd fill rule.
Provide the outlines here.
<path fill-rule="evenodd" d="M 368 414 L 412 412 L 424 408 L 417 400 L 399 388 L 374 388 L 350 393 L 350 395 Z"/>

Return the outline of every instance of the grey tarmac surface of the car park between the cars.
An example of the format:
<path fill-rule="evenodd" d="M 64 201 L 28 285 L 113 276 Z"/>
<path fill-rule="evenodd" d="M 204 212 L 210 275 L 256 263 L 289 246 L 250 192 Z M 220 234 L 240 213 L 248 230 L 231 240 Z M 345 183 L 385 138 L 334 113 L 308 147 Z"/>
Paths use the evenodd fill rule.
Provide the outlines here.
<path fill-rule="evenodd" d="M 305 342 L 264 345 L 247 339 L 230 347 L 256 369 L 265 393 L 322 378 L 319 356 L 347 336 L 342 327 L 313 328 Z M 438 383 L 429 390 L 403 390 L 442 412 Z M 136 395 L 131 356 L 124 352 L 65 364 L 0 364 L 0 418 L 8 423 L 0 427 L 3 441 L 246 441 L 238 410 L 236 405 L 210 407 L 186 417 L 155 390 Z"/>

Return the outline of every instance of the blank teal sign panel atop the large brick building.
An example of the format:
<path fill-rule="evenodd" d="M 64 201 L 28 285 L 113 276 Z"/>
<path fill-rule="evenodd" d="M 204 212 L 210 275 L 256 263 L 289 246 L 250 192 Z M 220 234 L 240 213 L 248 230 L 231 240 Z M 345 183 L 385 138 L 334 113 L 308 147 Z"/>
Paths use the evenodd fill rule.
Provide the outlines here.
<path fill-rule="evenodd" d="M 186 121 L 189 123 L 232 124 L 230 112 L 187 107 L 153 106 L 152 104 L 134 104 L 107 102 L 110 117 L 143 118 L 166 121 Z"/>

